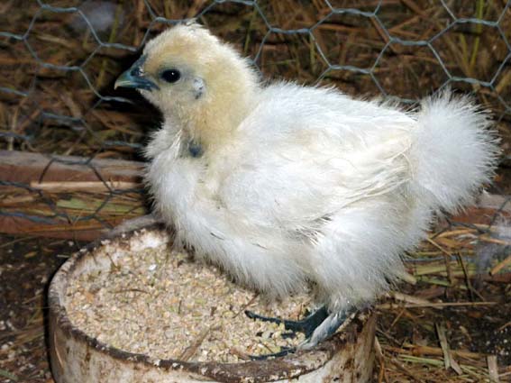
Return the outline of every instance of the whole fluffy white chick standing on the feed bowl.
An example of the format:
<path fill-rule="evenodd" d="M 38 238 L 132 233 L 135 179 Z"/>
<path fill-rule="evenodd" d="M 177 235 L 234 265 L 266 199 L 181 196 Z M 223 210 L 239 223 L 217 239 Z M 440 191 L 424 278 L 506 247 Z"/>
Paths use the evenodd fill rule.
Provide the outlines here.
<path fill-rule="evenodd" d="M 265 85 L 195 23 L 148 42 L 115 85 L 163 114 L 146 179 L 178 241 L 268 296 L 314 287 L 326 314 L 311 315 L 303 349 L 388 290 L 433 214 L 470 203 L 497 163 L 488 114 L 469 98 L 444 92 L 406 112 Z"/>

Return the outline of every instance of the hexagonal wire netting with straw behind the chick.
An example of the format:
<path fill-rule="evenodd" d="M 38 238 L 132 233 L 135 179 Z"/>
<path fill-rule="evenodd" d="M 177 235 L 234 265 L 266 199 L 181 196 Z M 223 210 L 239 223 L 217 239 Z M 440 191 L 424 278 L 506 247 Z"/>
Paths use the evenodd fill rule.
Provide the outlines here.
<path fill-rule="evenodd" d="M 144 128 L 159 117 L 134 92 L 114 91 L 114 79 L 151 36 L 190 18 L 235 44 L 268 78 L 333 83 L 353 95 L 406 105 L 443 87 L 460 88 L 493 111 L 506 143 L 510 6 L 511 0 L 4 2 L 1 149 L 80 156 L 54 158 L 50 166 L 75 161 L 93 171 L 93 158 L 139 158 Z M 140 192 L 109 186 L 100 200 L 82 201 L 89 210 L 72 210 L 29 185 L 0 180 L 0 186 L 37 193 L 49 206 L 31 214 L 3 205 L 0 214 L 41 223 L 108 225 L 101 213 L 112 198 L 136 199 L 130 193 Z"/>

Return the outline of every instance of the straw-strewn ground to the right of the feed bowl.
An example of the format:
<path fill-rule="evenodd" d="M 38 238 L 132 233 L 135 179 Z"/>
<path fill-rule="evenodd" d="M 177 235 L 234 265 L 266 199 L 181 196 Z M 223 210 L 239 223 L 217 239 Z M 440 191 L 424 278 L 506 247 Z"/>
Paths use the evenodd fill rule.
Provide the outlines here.
<path fill-rule="evenodd" d="M 415 285 L 379 305 L 378 381 L 511 380 L 508 232 L 445 226 L 410 254 Z"/>

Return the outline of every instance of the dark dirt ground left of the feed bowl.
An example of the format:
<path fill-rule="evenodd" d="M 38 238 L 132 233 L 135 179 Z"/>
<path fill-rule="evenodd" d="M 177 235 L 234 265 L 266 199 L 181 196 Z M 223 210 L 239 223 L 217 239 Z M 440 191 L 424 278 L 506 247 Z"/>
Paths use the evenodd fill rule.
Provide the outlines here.
<path fill-rule="evenodd" d="M 45 339 L 46 290 L 77 244 L 0 236 L 0 381 L 52 382 Z"/>

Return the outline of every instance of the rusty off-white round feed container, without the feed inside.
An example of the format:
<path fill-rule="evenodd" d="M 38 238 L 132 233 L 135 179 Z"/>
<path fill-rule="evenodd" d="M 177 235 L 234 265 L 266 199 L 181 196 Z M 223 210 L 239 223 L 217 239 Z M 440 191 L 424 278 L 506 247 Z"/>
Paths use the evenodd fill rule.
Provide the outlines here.
<path fill-rule="evenodd" d="M 115 348 L 71 323 L 70 281 L 112 267 L 129 253 L 171 242 L 161 229 L 123 234 L 71 257 L 50 284 L 50 360 L 57 383 L 367 382 L 374 364 L 376 315 L 362 313 L 310 351 L 236 363 L 158 359 Z M 249 318 L 245 318 L 249 321 Z M 120 329 L 125 332 L 125 329 Z"/>

